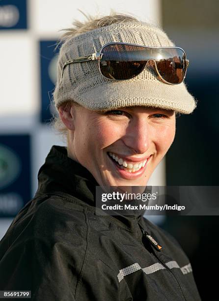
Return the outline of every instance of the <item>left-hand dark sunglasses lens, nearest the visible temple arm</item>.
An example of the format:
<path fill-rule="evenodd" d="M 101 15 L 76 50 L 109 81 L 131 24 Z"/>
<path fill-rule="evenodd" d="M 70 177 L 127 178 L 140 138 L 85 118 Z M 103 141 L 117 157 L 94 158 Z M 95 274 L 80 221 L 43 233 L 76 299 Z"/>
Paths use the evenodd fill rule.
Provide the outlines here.
<path fill-rule="evenodd" d="M 115 80 L 137 76 L 150 59 L 150 49 L 125 44 L 110 44 L 102 49 L 101 73 Z"/>

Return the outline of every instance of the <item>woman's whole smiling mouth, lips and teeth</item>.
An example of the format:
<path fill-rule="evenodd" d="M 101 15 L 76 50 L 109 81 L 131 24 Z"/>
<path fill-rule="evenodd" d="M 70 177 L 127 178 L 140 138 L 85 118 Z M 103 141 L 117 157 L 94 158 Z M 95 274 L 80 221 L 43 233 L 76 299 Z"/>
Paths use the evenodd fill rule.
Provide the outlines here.
<path fill-rule="evenodd" d="M 116 167 L 116 171 L 125 179 L 135 179 L 140 177 L 144 171 L 148 162 L 150 161 L 152 155 L 147 159 L 139 162 L 127 162 L 122 158 L 119 158 L 115 153 L 107 152 L 110 161 L 113 163 L 113 166 Z"/>

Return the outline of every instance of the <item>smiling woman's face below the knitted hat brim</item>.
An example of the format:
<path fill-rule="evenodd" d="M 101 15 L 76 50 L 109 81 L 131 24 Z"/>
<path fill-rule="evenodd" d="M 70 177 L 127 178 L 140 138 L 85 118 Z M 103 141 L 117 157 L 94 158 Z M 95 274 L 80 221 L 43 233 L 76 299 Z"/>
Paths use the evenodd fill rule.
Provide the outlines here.
<path fill-rule="evenodd" d="M 104 113 L 81 107 L 72 114 L 68 155 L 99 185 L 146 185 L 175 136 L 171 110 L 128 107 Z"/>

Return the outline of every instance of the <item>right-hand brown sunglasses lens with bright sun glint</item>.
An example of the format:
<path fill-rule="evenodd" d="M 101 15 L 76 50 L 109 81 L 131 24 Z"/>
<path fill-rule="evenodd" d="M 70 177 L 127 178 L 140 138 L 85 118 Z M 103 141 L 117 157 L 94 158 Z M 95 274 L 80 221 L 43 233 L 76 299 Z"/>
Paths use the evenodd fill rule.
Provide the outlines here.
<path fill-rule="evenodd" d="M 151 57 L 156 61 L 158 71 L 166 82 L 180 84 L 184 80 L 186 56 L 182 49 L 153 48 Z"/>

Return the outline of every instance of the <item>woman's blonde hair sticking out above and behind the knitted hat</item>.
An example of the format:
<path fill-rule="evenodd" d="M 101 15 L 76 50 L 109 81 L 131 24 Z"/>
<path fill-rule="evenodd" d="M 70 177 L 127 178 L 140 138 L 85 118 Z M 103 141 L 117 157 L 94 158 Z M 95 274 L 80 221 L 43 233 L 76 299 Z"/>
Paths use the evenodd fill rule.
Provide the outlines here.
<path fill-rule="evenodd" d="M 82 12 L 82 11 L 81 11 Z M 128 15 L 128 14 L 118 14 L 111 10 L 110 14 L 108 16 L 100 17 L 100 16 L 90 16 L 86 15 L 82 12 L 82 14 L 85 16 L 86 20 L 84 22 L 81 22 L 79 20 L 74 20 L 72 23 L 72 28 L 63 29 L 64 33 L 60 37 L 60 41 L 57 43 L 58 47 L 60 44 L 66 42 L 68 39 L 77 36 L 79 34 L 82 34 L 84 32 L 95 30 L 100 27 L 109 26 L 116 23 L 128 23 L 128 22 L 137 22 L 141 23 L 137 18 Z M 76 103 L 74 100 L 68 100 L 62 106 L 66 108 L 69 105 L 75 105 L 80 106 L 78 103 Z M 60 119 L 59 115 L 54 116 L 51 121 L 51 126 L 57 131 L 58 134 L 61 135 L 62 139 L 67 142 L 67 134 L 68 130 L 66 126 L 63 124 L 62 120 Z"/>

